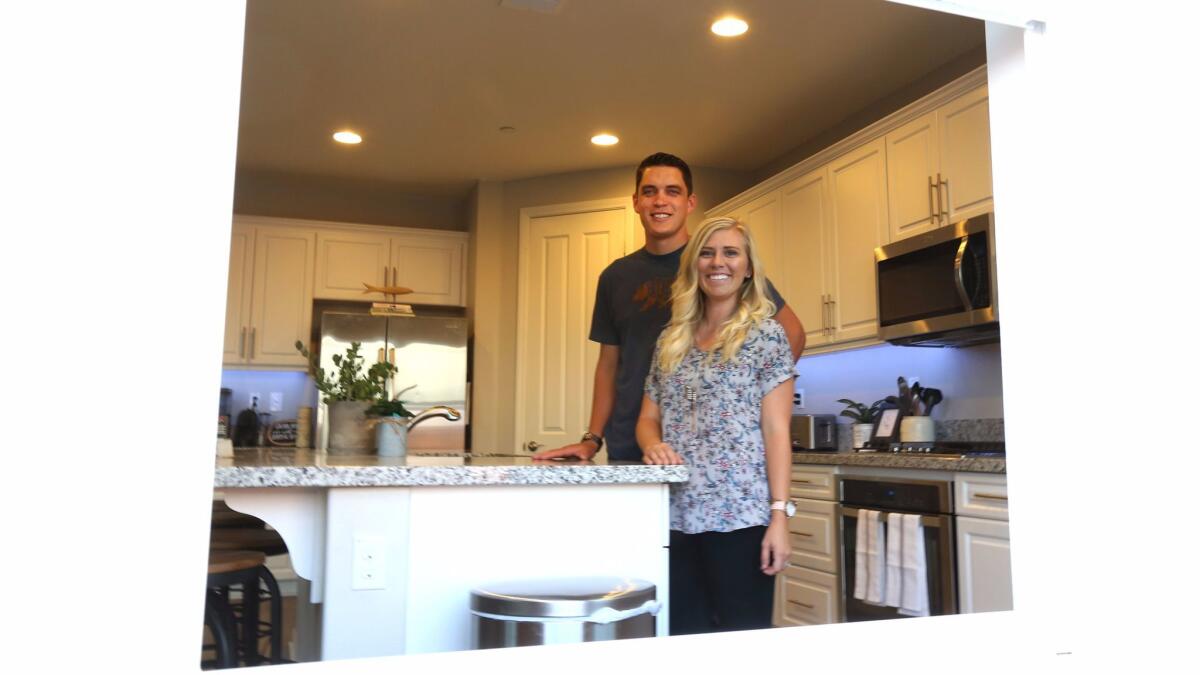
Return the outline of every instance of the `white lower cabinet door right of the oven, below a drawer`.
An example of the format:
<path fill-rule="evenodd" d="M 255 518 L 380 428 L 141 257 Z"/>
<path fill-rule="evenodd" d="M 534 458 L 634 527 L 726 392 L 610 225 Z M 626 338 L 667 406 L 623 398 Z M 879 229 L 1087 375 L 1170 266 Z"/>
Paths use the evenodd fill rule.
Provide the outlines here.
<path fill-rule="evenodd" d="M 1008 522 L 958 516 L 959 613 L 1013 609 Z"/>

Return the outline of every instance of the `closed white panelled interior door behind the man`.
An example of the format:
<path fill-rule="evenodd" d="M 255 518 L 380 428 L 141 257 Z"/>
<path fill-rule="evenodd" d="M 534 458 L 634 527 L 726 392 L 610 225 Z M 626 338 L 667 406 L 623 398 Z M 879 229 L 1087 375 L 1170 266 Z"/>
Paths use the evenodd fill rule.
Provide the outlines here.
<path fill-rule="evenodd" d="M 516 431 L 557 448 L 577 441 L 592 412 L 600 347 L 588 340 L 596 281 L 622 256 L 628 199 L 523 209 L 517 324 Z"/>

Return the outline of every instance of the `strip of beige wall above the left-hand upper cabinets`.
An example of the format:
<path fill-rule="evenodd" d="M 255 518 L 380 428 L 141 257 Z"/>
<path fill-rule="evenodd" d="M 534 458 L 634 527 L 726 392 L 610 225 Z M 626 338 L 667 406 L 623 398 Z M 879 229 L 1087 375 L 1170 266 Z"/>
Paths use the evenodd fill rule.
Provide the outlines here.
<path fill-rule="evenodd" d="M 466 199 L 406 193 L 378 181 L 238 171 L 235 214 L 467 231 Z"/>

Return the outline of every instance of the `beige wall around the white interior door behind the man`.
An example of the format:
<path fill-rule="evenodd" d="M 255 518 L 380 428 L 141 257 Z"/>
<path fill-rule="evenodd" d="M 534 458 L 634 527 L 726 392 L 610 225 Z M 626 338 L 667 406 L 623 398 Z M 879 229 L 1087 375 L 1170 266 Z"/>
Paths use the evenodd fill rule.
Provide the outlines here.
<path fill-rule="evenodd" d="M 593 199 L 632 198 L 636 167 L 575 172 L 558 175 L 480 183 L 468 201 L 472 222 L 474 366 L 472 382 L 472 447 L 511 452 L 516 438 L 517 257 L 521 209 Z M 697 208 L 689 219 L 694 228 L 703 211 L 750 187 L 749 172 L 692 168 Z M 637 243 L 636 246 L 640 246 Z M 634 246 L 634 247 L 636 247 Z M 582 430 L 581 430 L 582 432 Z"/>

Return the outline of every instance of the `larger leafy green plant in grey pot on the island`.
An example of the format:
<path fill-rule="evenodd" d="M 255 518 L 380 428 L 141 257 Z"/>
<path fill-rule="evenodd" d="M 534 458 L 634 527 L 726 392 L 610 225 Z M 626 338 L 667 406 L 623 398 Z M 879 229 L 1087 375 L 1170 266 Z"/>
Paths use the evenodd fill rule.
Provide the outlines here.
<path fill-rule="evenodd" d="M 367 411 L 386 399 L 388 378 L 396 372 L 390 363 L 376 363 L 364 368 L 359 354 L 361 342 L 350 342 L 346 354 L 334 354 L 337 366 L 335 376 L 326 375 L 317 363 L 317 357 L 296 340 L 296 351 L 308 359 L 308 375 L 324 394 L 322 401 L 329 406 L 329 453 L 367 454 L 374 450 L 374 438 L 366 416 Z"/>

